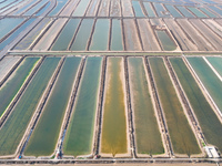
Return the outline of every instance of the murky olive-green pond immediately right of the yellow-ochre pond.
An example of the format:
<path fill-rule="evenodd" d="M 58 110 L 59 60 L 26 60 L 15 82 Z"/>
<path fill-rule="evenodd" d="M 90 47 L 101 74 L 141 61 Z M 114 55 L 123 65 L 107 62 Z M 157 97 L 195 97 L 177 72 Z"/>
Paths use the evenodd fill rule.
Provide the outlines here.
<path fill-rule="evenodd" d="M 163 154 L 164 148 L 141 58 L 129 59 L 129 75 L 134 112 L 137 151 L 139 154 Z"/>

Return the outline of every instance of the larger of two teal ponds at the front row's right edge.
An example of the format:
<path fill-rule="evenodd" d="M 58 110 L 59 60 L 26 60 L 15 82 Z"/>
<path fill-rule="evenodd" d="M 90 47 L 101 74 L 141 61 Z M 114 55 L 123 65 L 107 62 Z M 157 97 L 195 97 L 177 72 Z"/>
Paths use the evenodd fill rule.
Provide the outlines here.
<path fill-rule="evenodd" d="M 202 58 L 188 58 L 188 60 L 219 110 L 222 112 L 222 82 Z"/>

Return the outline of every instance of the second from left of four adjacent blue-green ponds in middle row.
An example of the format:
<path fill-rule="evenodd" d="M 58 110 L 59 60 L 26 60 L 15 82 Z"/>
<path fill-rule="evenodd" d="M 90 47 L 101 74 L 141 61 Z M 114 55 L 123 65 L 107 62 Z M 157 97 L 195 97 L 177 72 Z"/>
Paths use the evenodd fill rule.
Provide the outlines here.
<path fill-rule="evenodd" d="M 74 42 L 70 50 L 72 51 L 84 51 L 87 49 L 88 40 L 91 34 L 93 19 L 83 19 L 80 25 L 80 29 L 77 33 Z"/>

